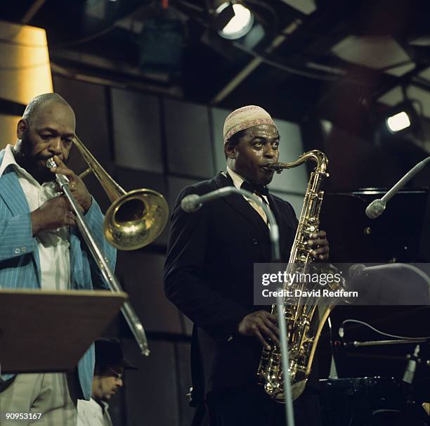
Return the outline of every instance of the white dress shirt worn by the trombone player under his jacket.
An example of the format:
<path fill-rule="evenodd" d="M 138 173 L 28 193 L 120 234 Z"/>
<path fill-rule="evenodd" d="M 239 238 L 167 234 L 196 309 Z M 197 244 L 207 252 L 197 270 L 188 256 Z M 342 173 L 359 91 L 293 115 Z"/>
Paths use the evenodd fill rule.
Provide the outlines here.
<path fill-rule="evenodd" d="M 8 166 L 12 166 L 18 174 L 18 180 L 30 207 L 30 212 L 38 209 L 44 202 L 55 198 L 56 183 L 53 181 L 40 183 L 22 169 L 16 162 L 12 146 L 6 146 L 0 176 Z M 41 231 L 36 235 L 41 268 L 42 290 L 67 290 L 70 288 L 70 233 L 68 226 L 50 231 Z"/>

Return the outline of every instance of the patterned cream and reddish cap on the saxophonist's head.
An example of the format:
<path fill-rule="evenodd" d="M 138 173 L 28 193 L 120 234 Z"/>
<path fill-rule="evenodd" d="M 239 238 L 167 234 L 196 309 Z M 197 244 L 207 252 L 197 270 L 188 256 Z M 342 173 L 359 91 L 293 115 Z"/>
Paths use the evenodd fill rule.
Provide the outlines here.
<path fill-rule="evenodd" d="M 249 127 L 258 124 L 273 124 L 276 127 L 269 113 L 259 106 L 247 105 L 237 108 L 228 115 L 224 122 L 224 143 L 238 131 L 249 129 Z"/>

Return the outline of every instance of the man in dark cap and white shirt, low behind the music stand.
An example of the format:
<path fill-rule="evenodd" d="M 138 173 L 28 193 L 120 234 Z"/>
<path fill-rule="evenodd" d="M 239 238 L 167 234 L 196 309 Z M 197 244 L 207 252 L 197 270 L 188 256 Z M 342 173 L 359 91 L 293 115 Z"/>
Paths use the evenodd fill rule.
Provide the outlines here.
<path fill-rule="evenodd" d="M 115 339 L 98 339 L 96 347 L 96 367 L 94 369 L 93 389 L 89 401 L 78 401 L 78 426 L 112 426 L 107 411 L 109 401 L 117 389 L 122 387 L 125 369 L 137 370 L 124 359 L 121 346 Z"/>

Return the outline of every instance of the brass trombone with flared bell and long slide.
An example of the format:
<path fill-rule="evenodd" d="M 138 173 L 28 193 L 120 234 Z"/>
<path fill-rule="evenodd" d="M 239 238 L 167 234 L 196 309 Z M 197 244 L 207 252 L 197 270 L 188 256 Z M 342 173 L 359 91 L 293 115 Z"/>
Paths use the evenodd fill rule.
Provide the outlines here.
<path fill-rule="evenodd" d="M 107 174 L 105 169 L 91 155 L 77 136 L 74 136 L 73 142 L 89 166 L 79 177 L 82 178 L 91 172 L 95 174 L 101 186 L 106 191 L 107 196 L 112 201 L 112 205 L 107 209 L 103 223 L 107 241 L 120 250 L 135 250 L 152 243 L 167 223 L 169 207 L 167 207 L 164 197 L 156 191 L 145 188 L 126 193 Z M 46 161 L 46 167 L 51 168 L 55 165 L 56 163 L 52 158 Z M 107 263 L 107 259 L 105 259 L 100 247 L 98 247 L 93 235 L 91 235 L 89 227 L 85 223 L 84 216 L 79 209 L 79 205 L 70 192 L 67 176 L 56 174 L 56 180 L 74 210 L 79 231 L 82 233 L 82 237 L 100 268 L 107 285 L 109 285 L 112 292 L 122 292 L 119 280 Z M 150 351 L 148 349 L 145 329 L 129 300 L 124 302 L 121 311 L 141 349 L 141 353 L 148 356 Z"/>

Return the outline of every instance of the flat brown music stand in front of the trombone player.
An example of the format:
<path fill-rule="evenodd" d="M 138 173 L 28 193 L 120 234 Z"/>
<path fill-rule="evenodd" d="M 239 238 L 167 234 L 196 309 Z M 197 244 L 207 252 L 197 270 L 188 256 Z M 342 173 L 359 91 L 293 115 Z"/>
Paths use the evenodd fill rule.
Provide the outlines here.
<path fill-rule="evenodd" d="M 0 372 L 72 370 L 127 298 L 103 290 L 0 290 Z"/>

